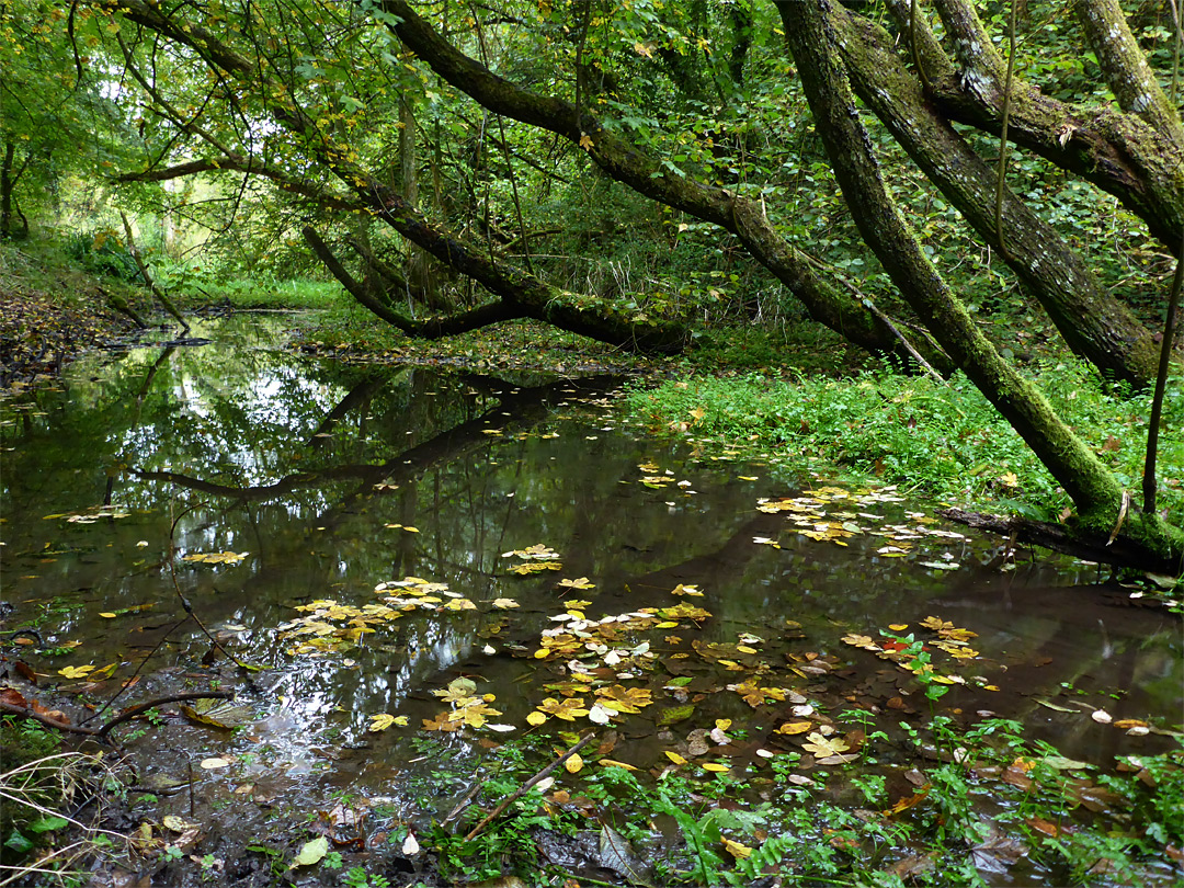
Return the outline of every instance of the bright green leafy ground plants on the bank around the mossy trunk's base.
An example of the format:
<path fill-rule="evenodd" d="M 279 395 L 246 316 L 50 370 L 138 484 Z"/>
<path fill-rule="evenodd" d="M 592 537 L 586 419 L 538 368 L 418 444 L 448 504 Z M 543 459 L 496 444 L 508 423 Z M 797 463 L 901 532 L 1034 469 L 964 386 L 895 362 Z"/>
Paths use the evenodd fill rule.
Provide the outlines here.
<path fill-rule="evenodd" d="M 1036 365 L 1054 406 L 1127 489 L 1143 470 L 1150 397 L 1115 392 L 1085 365 Z M 991 503 L 1054 519 L 1068 500 L 1015 431 L 961 377 L 864 372 L 847 379 L 764 374 L 696 377 L 636 390 L 628 405 L 655 426 L 745 445 L 794 472 L 838 465 L 880 483 L 907 483 L 948 501 Z M 701 413 L 701 416 L 700 416 Z M 1167 427 L 1184 423 L 1184 380 L 1172 378 Z M 1184 509 L 1184 439 L 1162 440 L 1162 508 Z"/>

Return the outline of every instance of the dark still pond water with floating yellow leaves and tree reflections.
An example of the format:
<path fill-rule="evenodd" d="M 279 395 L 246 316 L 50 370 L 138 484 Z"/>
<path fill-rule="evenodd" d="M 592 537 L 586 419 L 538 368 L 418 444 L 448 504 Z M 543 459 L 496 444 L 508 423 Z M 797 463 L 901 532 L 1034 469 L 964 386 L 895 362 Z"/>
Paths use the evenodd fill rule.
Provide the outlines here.
<path fill-rule="evenodd" d="M 237 731 L 169 716 L 140 741 L 148 772 L 229 757 L 207 789 L 394 792 L 411 738 L 469 755 L 535 731 L 547 700 L 543 731 L 606 703 L 612 757 L 643 770 L 716 719 L 747 738 L 721 754 L 760 764 L 800 741 L 773 729 L 802 697 L 924 710 L 851 639 L 940 641 L 931 617 L 974 633 L 977 656 L 942 661 L 948 712 L 1090 761 L 1165 748 L 1096 709 L 1178 721 L 1178 622 L 1095 567 L 1003 564 L 894 489 L 630 425 L 622 379 L 349 366 L 283 348 L 300 323 L 204 321 L 205 345 L 92 356 L 2 405 L 5 629 L 40 633 L 21 654 L 43 686 L 102 701 L 130 682 L 116 707 L 240 689 Z M 459 677 L 485 707 L 469 721 L 446 715 Z M 407 723 L 371 731 L 382 714 Z"/>

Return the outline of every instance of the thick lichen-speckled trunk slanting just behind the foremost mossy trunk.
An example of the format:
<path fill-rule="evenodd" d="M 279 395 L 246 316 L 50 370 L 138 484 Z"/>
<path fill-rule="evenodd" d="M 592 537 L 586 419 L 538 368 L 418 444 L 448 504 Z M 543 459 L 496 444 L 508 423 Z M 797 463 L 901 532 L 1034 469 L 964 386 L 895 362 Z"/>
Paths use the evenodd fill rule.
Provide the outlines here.
<path fill-rule="evenodd" d="M 1023 200 L 1004 189 L 1003 240 L 995 218 L 996 172 L 925 101 L 892 37 L 841 6 L 831 7 L 851 85 L 925 175 L 1003 256 L 1044 307 L 1075 354 L 1134 387 L 1156 375 L 1154 335 L 1098 282 L 1086 262 Z"/>

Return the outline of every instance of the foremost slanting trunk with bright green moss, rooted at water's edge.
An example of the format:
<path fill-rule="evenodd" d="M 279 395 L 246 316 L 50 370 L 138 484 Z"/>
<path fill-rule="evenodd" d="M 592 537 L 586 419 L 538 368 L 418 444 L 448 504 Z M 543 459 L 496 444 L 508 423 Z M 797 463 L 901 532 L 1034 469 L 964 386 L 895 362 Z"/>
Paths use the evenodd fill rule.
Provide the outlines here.
<path fill-rule="evenodd" d="M 929 263 L 884 188 L 871 140 L 860 121 L 843 71 L 838 39 L 828 17 L 831 0 L 777 4 L 786 43 L 797 63 L 815 127 L 856 224 L 901 295 L 958 366 L 1019 433 L 1079 511 L 1079 533 L 1089 539 L 1118 530 L 1163 570 L 1184 558 L 1184 532 L 1157 515 L 1126 513 L 1128 495 L 1096 455 L 1056 416 L 1034 385 L 1021 377 L 979 332 L 961 302 Z"/>

